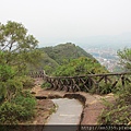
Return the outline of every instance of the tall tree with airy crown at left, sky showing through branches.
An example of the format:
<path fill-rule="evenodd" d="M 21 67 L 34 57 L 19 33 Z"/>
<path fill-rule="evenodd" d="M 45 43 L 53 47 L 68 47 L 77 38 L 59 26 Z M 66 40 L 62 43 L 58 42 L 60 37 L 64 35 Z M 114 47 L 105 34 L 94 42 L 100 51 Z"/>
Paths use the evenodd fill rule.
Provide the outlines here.
<path fill-rule="evenodd" d="M 4 52 L 4 62 L 15 67 L 19 73 L 25 71 L 28 63 L 38 63 L 36 60 L 40 52 L 36 49 L 37 46 L 38 40 L 28 35 L 21 23 L 0 23 L 0 50 Z"/>

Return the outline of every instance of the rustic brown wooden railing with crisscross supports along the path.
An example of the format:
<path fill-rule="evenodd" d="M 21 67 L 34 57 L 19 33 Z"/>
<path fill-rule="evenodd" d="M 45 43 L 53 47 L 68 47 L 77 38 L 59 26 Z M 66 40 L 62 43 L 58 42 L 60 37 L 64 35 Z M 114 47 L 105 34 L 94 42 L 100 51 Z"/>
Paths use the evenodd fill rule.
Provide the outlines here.
<path fill-rule="evenodd" d="M 87 74 L 78 76 L 48 76 L 44 71 L 39 71 L 32 72 L 31 76 L 43 78 L 46 82 L 50 83 L 50 88 L 67 92 L 88 92 L 93 87 L 98 92 L 100 86 L 110 86 L 114 88 L 116 85 L 120 85 L 124 87 L 126 84 L 131 83 L 131 72 Z"/>

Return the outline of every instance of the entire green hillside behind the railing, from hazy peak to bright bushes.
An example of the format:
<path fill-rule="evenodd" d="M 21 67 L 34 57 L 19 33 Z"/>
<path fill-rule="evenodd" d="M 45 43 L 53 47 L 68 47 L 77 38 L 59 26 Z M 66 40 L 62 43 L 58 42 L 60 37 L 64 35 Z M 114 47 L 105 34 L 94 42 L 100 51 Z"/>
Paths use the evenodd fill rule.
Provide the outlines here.
<path fill-rule="evenodd" d="M 66 73 L 61 73 L 61 74 L 55 73 L 57 71 L 60 72 L 60 70 L 62 70 L 62 67 L 64 67 L 69 71 L 72 68 L 74 68 L 72 75 L 76 75 L 76 74 L 79 75 L 83 73 L 85 74 L 96 73 L 96 72 L 100 73 L 105 71 L 107 72 L 107 70 L 104 67 L 102 67 L 99 62 L 92 55 L 87 53 L 84 49 L 71 43 L 60 44 L 55 47 L 45 47 L 45 48 L 40 48 L 39 50 L 43 53 L 40 68 L 43 68 L 47 74 L 64 75 Z M 71 64 L 71 62 L 73 61 L 75 61 L 76 63 L 75 66 Z M 78 68 L 81 69 L 83 68 L 81 71 L 78 71 L 79 73 L 75 72 L 76 66 Z M 103 71 L 102 69 L 99 71 L 98 68 L 102 68 Z M 67 70 L 64 70 L 64 72 L 67 72 Z"/>

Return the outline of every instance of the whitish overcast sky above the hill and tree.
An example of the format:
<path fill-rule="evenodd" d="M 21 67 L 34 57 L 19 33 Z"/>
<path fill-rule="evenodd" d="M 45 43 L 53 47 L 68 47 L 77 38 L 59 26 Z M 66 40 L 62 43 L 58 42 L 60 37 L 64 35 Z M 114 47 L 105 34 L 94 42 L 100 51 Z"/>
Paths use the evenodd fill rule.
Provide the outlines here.
<path fill-rule="evenodd" d="M 24 24 L 40 46 L 131 33 L 131 0 L 0 0 L 0 22 Z"/>

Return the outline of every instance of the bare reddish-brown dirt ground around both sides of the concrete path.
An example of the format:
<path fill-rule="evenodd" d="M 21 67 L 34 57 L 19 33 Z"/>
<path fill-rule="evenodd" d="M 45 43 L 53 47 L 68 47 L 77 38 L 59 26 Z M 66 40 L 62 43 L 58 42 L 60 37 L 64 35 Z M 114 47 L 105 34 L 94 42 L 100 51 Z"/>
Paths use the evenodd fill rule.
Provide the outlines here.
<path fill-rule="evenodd" d="M 34 124 L 44 124 L 55 109 L 55 105 L 49 98 L 64 97 L 67 94 L 66 92 L 45 91 L 39 85 L 35 86 L 32 90 L 32 93 L 37 98 L 39 98 L 37 100 L 37 115 L 33 122 Z M 97 124 L 97 118 L 105 108 L 102 103 L 102 98 L 106 98 L 108 100 L 115 99 L 114 94 L 108 94 L 106 96 L 91 95 L 83 92 L 78 92 L 75 94 L 81 94 L 86 99 L 82 114 L 81 124 Z"/>

